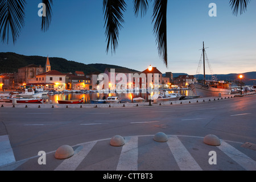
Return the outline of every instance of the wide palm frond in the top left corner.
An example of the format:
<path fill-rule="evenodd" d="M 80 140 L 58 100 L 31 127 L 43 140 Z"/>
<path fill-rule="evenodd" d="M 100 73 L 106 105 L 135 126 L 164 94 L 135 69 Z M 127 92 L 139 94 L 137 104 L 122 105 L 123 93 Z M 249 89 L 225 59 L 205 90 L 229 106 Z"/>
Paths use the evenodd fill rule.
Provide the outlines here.
<path fill-rule="evenodd" d="M 9 43 L 9 27 L 15 44 L 20 30 L 24 26 L 25 0 L 1 0 L 0 1 L 0 35 L 2 42 L 7 39 Z"/>

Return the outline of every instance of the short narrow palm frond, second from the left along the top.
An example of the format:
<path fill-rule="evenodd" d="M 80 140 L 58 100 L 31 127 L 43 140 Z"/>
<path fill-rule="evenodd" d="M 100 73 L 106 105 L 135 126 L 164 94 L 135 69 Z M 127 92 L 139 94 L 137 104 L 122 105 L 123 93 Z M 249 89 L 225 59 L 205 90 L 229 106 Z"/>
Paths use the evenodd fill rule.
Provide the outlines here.
<path fill-rule="evenodd" d="M 46 16 L 42 16 L 41 30 L 46 32 L 51 24 L 52 20 L 52 1 L 53 0 L 42 0 L 42 3 L 46 5 Z"/>

